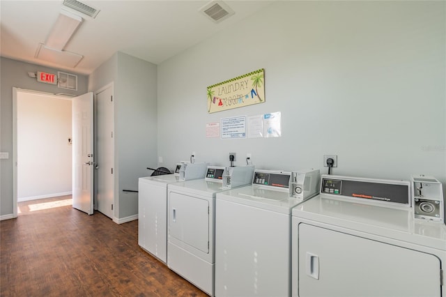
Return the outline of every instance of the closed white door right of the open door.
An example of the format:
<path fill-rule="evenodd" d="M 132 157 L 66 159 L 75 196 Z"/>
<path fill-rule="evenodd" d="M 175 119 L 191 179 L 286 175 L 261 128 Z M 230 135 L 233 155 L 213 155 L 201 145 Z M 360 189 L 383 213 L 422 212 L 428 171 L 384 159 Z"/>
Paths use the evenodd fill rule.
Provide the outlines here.
<path fill-rule="evenodd" d="M 113 219 L 114 205 L 114 106 L 113 87 L 96 93 L 96 208 Z"/>

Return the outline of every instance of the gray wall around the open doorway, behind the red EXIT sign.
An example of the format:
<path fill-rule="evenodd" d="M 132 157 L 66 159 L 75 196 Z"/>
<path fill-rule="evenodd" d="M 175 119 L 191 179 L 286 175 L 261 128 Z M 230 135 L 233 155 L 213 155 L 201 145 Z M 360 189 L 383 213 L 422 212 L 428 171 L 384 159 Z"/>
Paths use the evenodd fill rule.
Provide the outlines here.
<path fill-rule="evenodd" d="M 77 76 L 77 91 L 70 91 L 60 89 L 52 84 L 37 82 L 35 78 L 31 78 L 27 74 L 37 71 L 57 74 L 58 70 L 0 57 L 0 151 L 9 153 L 8 159 L 0 160 L 0 215 L 11 215 L 13 213 L 13 87 L 73 95 L 81 95 L 86 93 L 87 90 L 87 77 L 85 75 Z"/>

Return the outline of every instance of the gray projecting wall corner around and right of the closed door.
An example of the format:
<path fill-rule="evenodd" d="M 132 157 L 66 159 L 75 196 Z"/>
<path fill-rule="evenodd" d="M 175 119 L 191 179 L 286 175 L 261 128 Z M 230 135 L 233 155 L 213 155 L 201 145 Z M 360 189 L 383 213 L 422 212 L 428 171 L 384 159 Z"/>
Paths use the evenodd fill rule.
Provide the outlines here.
<path fill-rule="evenodd" d="M 89 77 L 89 90 L 114 82 L 115 192 L 118 219 L 138 213 L 138 178 L 157 164 L 157 107 L 154 64 L 117 52 Z"/>

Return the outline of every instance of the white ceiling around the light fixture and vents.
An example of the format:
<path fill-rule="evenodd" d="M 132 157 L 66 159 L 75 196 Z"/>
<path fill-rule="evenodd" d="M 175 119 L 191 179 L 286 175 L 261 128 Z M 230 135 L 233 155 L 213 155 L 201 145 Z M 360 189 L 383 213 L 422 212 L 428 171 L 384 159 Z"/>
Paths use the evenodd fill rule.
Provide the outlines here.
<path fill-rule="evenodd" d="M 0 0 L 1 56 L 86 75 L 118 51 L 158 64 L 273 1 L 226 0 L 235 14 L 218 24 L 199 12 L 210 0 L 82 1 L 100 13 L 95 19 L 77 13 L 84 20 L 64 49 L 84 56 L 75 68 L 34 57 L 65 7 L 62 2 Z"/>

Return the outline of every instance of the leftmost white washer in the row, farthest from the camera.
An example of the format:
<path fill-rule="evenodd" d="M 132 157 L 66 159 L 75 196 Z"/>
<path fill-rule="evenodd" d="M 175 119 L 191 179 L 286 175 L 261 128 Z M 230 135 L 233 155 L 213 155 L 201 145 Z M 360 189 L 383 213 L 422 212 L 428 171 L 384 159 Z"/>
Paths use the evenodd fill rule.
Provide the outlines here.
<path fill-rule="evenodd" d="M 167 185 L 204 178 L 207 166 L 207 163 L 178 163 L 174 174 L 138 180 L 138 244 L 164 264 L 167 264 Z"/>

